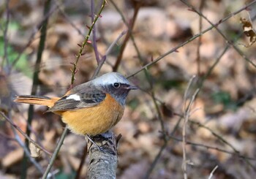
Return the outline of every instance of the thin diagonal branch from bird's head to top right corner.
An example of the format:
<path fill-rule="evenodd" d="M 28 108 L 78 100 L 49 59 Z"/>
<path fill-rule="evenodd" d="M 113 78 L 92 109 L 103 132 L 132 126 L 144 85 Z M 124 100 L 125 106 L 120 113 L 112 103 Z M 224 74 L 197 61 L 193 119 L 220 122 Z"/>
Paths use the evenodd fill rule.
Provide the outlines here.
<path fill-rule="evenodd" d="M 247 4 L 246 6 L 242 7 L 241 9 L 238 9 L 236 12 L 230 13 L 230 15 L 227 15 L 226 18 L 223 18 L 222 20 L 219 20 L 219 22 L 214 23 L 213 26 L 210 26 L 208 28 L 206 28 L 204 31 L 200 32 L 199 34 L 195 34 L 195 36 L 191 37 L 190 39 L 188 39 L 186 42 L 182 42 L 180 45 L 174 47 L 173 49 L 167 51 L 166 53 L 162 54 L 162 56 L 159 56 L 158 58 L 154 59 L 154 61 L 151 61 L 150 63 L 144 65 L 143 67 L 141 67 L 140 69 L 138 69 L 137 71 L 133 72 L 131 75 L 129 75 L 128 77 L 132 77 L 137 75 L 139 72 L 143 71 L 143 69 L 146 69 L 150 66 L 152 66 L 153 64 L 156 64 L 157 61 L 162 60 L 162 58 L 165 58 L 165 56 L 170 55 L 170 53 L 176 52 L 180 47 L 183 47 L 184 45 L 187 45 L 189 42 L 192 42 L 194 39 L 197 39 L 197 37 L 200 37 L 203 34 L 206 34 L 206 32 L 210 31 L 212 28 L 215 28 L 216 26 L 218 26 L 220 23 L 225 22 L 226 20 L 228 20 L 229 18 L 233 17 L 234 15 L 238 14 L 239 12 L 243 11 L 244 9 L 248 9 L 248 7 L 252 6 L 252 4 L 255 4 L 255 1 L 250 2 L 249 4 Z"/>

